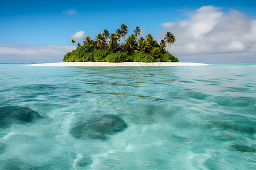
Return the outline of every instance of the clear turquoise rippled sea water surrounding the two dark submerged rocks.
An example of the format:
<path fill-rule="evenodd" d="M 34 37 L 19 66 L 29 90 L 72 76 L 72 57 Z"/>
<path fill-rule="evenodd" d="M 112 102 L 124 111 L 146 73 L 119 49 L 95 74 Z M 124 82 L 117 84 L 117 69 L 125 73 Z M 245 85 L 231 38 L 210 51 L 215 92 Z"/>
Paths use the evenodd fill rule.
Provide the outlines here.
<path fill-rule="evenodd" d="M 255 65 L 0 65 L 0 107 L 43 117 L 0 129 L 0 169 L 255 169 L 255 79 Z M 105 114 L 127 128 L 69 133 Z"/>

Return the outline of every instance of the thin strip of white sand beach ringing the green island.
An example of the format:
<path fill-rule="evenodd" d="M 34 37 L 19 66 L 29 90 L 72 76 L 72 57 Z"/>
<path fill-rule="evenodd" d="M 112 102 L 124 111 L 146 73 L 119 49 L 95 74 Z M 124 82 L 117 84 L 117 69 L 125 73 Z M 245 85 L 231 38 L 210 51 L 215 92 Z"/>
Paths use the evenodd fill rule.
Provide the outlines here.
<path fill-rule="evenodd" d="M 55 62 L 36 63 L 26 66 L 55 66 L 55 67 L 133 67 L 133 66 L 207 66 L 196 62 Z"/>

